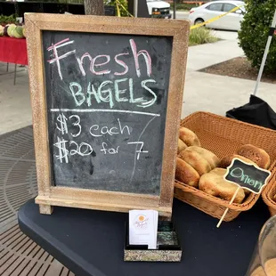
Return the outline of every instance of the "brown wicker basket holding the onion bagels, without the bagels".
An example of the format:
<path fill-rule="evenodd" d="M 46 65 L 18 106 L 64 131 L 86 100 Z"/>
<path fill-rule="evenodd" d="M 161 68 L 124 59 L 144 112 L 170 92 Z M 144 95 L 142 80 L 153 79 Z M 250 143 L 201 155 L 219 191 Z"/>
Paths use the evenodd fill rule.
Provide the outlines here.
<path fill-rule="evenodd" d="M 276 131 L 262 126 L 250 125 L 239 120 L 225 118 L 212 113 L 196 112 L 184 118 L 181 126 L 190 128 L 198 135 L 203 148 L 214 152 L 218 158 L 231 155 L 241 145 L 251 143 L 268 152 L 272 159 L 270 170 L 273 172 L 269 184 L 276 182 Z M 254 206 L 260 195 L 250 193 L 242 204 L 215 198 L 185 183 L 175 180 L 175 198 L 180 199 L 199 210 L 221 218 L 226 207 L 229 207 L 225 222 L 230 222 L 242 211 Z M 276 204 L 275 204 L 276 210 Z"/>

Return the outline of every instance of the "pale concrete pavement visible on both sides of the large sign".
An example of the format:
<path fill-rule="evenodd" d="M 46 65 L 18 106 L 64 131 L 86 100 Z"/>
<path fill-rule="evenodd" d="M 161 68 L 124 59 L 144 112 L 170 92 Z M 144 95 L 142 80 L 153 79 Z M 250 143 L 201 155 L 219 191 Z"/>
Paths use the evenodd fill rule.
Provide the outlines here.
<path fill-rule="evenodd" d="M 226 36 L 229 34 L 226 33 Z M 248 102 L 255 81 L 198 71 L 241 55 L 243 52 L 239 49 L 237 39 L 233 37 L 215 44 L 189 48 L 182 118 L 199 110 L 225 115 L 227 110 Z M 0 75 L 4 72 L 3 64 L 0 66 Z M 274 110 L 276 110 L 275 88 L 275 85 L 262 83 L 257 93 L 264 101 L 271 104 Z M 31 125 L 27 71 L 18 74 L 16 85 L 13 85 L 12 73 L 0 76 L 0 115 L 0 134 Z"/>

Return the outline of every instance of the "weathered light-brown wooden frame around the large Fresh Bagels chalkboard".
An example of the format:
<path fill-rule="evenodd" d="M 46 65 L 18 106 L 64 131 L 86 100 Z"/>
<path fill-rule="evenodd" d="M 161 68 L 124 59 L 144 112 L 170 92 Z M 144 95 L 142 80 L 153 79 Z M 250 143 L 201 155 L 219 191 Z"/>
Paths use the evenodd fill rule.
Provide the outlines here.
<path fill-rule="evenodd" d="M 37 160 L 36 203 L 39 204 L 40 213 L 50 215 L 53 206 L 62 206 L 118 212 L 128 212 L 130 209 L 155 209 L 159 215 L 170 217 L 174 198 L 175 156 L 183 103 L 189 22 L 45 13 L 25 13 L 25 22 Z M 53 185 L 45 97 L 43 30 L 173 37 L 159 196 Z"/>

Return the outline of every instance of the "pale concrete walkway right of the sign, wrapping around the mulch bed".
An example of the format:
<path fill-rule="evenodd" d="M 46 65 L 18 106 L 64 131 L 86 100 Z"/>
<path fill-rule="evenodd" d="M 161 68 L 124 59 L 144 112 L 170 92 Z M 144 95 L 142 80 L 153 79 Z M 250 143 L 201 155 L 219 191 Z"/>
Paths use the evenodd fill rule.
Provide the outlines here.
<path fill-rule="evenodd" d="M 226 111 L 248 103 L 256 81 L 236 77 L 218 76 L 199 72 L 216 63 L 243 56 L 235 32 L 219 32 L 228 40 L 215 44 L 197 45 L 189 48 L 186 82 L 183 94 L 182 118 L 196 111 L 208 111 L 225 116 Z M 261 83 L 257 96 L 276 110 L 276 85 Z"/>

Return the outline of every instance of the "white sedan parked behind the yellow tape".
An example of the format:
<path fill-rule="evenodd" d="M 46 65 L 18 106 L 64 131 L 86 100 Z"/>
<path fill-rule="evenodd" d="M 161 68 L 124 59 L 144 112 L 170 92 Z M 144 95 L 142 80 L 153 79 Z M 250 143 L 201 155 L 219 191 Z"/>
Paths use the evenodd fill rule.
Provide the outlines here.
<path fill-rule="evenodd" d="M 233 8 L 240 6 L 235 12 L 230 12 Z M 220 28 L 239 30 L 240 21 L 243 20 L 245 13 L 245 3 L 243 1 L 213 1 L 207 4 L 202 4 L 199 7 L 192 8 L 189 14 L 191 25 L 196 25 L 204 21 L 222 15 L 225 12 L 230 12 L 218 20 L 210 22 L 206 25 L 207 28 Z"/>

